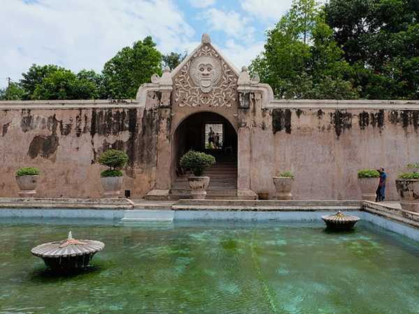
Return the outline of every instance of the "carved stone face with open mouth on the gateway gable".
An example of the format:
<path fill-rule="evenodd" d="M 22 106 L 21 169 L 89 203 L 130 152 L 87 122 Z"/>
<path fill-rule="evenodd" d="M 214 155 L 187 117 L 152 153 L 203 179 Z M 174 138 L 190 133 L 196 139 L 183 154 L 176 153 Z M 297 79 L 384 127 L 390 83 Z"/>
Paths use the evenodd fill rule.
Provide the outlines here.
<path fill-rule="evenodd" d="M 193 60 L 190 68 L 193 83 L 204 93 L 209 93 L 221 79 L 221 65 L 214 57 L 201 56 Z"/>

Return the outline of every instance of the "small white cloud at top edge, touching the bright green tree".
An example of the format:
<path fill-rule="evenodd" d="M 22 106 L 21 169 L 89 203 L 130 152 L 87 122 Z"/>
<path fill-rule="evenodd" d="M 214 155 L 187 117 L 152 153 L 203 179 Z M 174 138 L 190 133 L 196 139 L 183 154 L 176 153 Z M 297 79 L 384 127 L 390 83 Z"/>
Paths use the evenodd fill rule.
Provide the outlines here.
<path fill-rule="evenodd" d="M 278 22 L 292 0 L 242 0 L 242 9 L 255 17 Z"/>

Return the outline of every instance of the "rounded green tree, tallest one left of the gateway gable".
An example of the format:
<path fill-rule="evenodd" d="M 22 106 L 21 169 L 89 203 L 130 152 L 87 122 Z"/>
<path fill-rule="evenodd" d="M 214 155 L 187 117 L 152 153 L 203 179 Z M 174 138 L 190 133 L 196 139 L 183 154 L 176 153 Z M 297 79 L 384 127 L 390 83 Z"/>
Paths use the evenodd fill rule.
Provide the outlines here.
<path fill-rule="evenodd" d="M 103 84 L 112 98 L 135 98 L 138 87 L 161 74 L 161 53 L 150 36 L 124 47 L 105 63 Z"/>

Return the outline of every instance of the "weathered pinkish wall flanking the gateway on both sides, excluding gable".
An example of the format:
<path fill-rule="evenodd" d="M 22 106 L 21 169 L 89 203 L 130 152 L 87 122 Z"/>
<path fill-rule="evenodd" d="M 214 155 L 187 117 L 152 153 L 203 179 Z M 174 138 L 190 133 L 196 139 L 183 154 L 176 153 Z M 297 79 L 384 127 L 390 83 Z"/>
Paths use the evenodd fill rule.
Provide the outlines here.
<path fill-rule="evenodd" d="M 0 197 L 17 195 L 14 173 L 24 166 L 41 169 L 39 196 L 98 197 L 105 168 L 95 160 L 108 148 L 127 151 L 124 190 L 133 197 L 170 186 L 172 119 L 179 114 L 170 113 L 170 100 L 162 107 L 166 98 L 157 96 L 148 94 L 145 105 L 135 100 L 0 102 Z M 291 170 L 297 199 L 359 199 L 358 170 L 385 167 L 388 198 L 397 199 L 397 174 L 419 161 L 419 102 L 263 103 L 257 91 L 250 100 L 249 108 L 232 116 L 238 126 L 238 190 L 273 196 L 272 177 Z"/>

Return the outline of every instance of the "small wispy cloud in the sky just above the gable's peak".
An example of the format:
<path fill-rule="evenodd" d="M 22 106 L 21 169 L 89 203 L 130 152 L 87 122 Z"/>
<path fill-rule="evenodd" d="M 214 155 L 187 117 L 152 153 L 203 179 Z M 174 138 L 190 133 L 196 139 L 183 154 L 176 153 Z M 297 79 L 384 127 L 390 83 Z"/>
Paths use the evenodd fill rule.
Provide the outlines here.
<path fill-rule="evenodd" d="M 216 8 L 211 8 L 203 13 L 203 19 L 213 31 L 223 31 L 228 36 L 251 40 L 255 29 L 249 27 L 249 19 L 243 17 L 235 11 L 225 12 Z"/>

